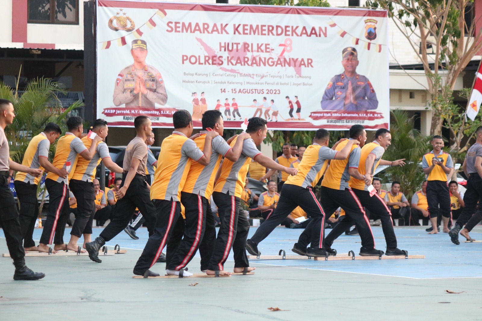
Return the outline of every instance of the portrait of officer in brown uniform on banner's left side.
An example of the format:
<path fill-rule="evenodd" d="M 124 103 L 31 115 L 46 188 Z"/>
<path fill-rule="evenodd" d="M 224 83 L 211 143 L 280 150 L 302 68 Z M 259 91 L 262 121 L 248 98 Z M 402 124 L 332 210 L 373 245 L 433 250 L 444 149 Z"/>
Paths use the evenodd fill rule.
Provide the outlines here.
<path fill-rule="evenodd" d="M 114 105 L 154 107 L 157 103 L 164 106 L 167 102 L 164 80 L 156 68 L 146 64 L 146 41 L 133 40 L 131 54 L 134 64 L 122 69 L 117 76 Z"/>

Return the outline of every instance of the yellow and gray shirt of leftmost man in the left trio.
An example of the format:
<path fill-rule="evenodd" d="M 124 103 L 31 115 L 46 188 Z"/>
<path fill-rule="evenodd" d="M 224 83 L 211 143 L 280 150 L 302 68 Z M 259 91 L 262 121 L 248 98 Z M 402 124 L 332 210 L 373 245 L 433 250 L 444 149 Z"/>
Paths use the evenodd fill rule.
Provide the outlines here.
<path fill-rule="evenodd" d="M 29 168 L 40 168 L 40 157 L 49 157 L 50 141 L 47 139 L 45 134 L 40 133 L 33 137 L 30 143 L 28 143 L 27 150 L 25 151 L 24 159 L 22 165 Z M 16 181 L 30 183 L 32 185 L 38 185 L 40 177 L 32 176 L 28 173 L 18 172 L 15 176 Z"/>

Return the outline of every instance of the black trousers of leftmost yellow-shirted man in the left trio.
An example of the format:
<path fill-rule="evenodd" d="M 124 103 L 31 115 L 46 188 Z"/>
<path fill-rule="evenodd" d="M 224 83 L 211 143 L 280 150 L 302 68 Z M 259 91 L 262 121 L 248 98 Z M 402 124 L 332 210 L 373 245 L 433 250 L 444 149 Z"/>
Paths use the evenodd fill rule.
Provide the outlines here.
<path fill-rule="evenodd" d="M 14 181 L 15 191 L 17 192 L 18 201 L 20 201 L 20 228 L 22 229 L 22 238 L 24 239 L 24 247 L 35 246 L 33 240 L 33 230 L 35 222 L 39 217 L 39 201 L 37 200 L 37 184 L 30 184 L 21 181 Z"/>

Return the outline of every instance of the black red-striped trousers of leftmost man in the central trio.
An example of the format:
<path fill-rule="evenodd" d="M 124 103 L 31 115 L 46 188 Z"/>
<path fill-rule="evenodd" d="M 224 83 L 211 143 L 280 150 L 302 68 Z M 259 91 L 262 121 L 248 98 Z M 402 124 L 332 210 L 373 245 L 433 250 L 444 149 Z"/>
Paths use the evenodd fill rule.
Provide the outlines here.
<path fill-rule="evenodd" d="M 181 216 L 181 203 L 179 201 L 174 201 L 172 198 L 171 201 L 153 201 L 156 207 L 156 225 L 154 227 L 154 233 L 147 240 L 144 251 L 142 251 L 142 254 L 134 267 L 134 270 L 142 272 L 145 272 L 156 263 L 159 255 L 162 253 L 162 249 L 169 242 L 174 227 L 177 227 L 177 231 L 182 230 L 182 226 L 176 226 L 177 221 Z M 180 232 L 177 234 L 179 235 Z"/>

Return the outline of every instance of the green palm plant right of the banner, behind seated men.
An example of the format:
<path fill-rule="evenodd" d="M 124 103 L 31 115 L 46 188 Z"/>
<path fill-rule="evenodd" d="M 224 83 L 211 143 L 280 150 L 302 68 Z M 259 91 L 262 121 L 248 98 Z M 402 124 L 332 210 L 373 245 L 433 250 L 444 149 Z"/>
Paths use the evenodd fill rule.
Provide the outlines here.
<path fill-rule="evenodd" d="M 388 147 L 383 159 L 399 160 L 405 159 L 403 167 L 389 167 L 381 178 L 385 181 L 400 181 L 402 191 L 410 199 L 412 195 L 420 190 L 425 180 L 421 161 L 428 152 L 428 140 L 420 131 L 414 128 L 414 117 L 409 118 L 406 111 L 396 109 L 391 111 L 392 125 L 391 146 Z"/>

